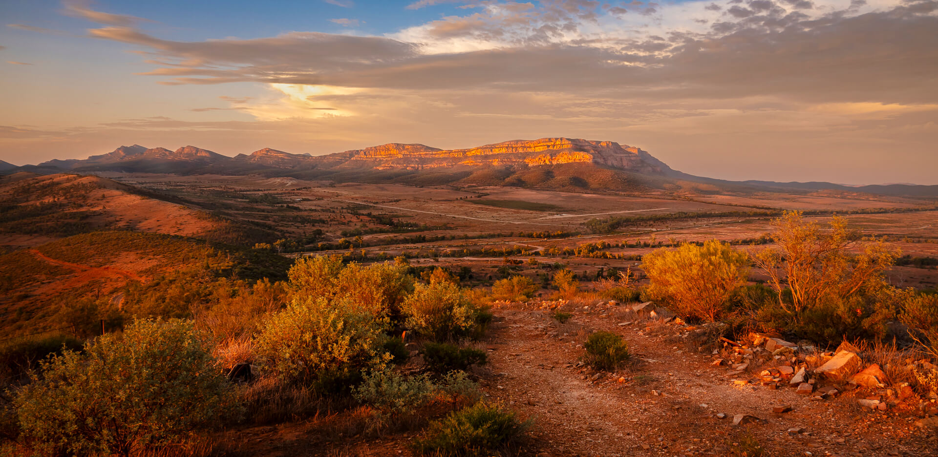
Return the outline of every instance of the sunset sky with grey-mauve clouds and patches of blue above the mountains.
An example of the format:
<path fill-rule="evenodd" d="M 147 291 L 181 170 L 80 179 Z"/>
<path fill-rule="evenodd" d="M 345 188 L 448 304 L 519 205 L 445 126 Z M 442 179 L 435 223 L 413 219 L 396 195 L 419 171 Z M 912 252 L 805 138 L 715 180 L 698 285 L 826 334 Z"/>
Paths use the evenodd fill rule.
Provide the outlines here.
<path fill-rule="evenodd" d="M 938 184 L 938 0 L 4 0 L 0 159 L 544 137 Z"/>

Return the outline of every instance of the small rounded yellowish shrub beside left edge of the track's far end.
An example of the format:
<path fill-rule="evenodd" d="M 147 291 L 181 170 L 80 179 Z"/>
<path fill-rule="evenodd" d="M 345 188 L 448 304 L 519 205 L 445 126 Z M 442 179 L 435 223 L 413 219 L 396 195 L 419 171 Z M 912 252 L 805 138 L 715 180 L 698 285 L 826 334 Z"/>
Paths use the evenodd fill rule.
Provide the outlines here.
<path fill-rule="evenodd" d="M 449 282 L 417 284 L 401 311 L 408 328 L 437 341 L 464 336 L 477 324 L 477 306 Z"/>

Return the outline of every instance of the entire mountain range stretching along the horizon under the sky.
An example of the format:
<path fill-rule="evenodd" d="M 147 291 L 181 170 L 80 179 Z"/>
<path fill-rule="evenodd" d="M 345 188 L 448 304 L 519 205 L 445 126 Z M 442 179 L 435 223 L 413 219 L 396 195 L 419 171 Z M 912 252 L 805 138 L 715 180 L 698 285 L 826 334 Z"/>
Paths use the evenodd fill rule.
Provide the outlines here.
<path fill-rule="evenodd" d="M 98 171 L 197 174 L 258 174 L 333 182 L 415 185 L 517 185 L 559 190 L 771 190 L 831 189 L 881 195 L 938 197 L 938 185 L 851 186 L 831 183 L 733 182 L 672 170 L 653 155 L 614 141 L 542 138 L 509 140 L 468 149 L 387 143 L 329 155 L 291 154 L 271 148 L 250 155 L 220 155 L 195 146 L 175 151 L 121 146 L 86 159 L 54 159 L 15 167 L 0 162 L 0 173 L 40 174 Z M 716 188 L 714 188 L 716 187 Z"/>

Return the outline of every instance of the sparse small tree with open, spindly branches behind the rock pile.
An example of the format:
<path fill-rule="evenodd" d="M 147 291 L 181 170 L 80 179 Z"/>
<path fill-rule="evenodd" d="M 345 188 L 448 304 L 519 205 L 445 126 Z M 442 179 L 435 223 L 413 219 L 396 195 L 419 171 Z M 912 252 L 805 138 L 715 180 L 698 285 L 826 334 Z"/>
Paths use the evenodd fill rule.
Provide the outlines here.
<path fill-rule="evenodd" d="M 847 230 L 847 220 L 835 216 L 829 229 L 805 222 L 800 212 L 786 212 L 774 221 L 772 239 L 778 247 L 763 249 L 756 264 L 769 276 L 769 285 L 785 312 L 800 314 L 825 302 L 842 302 L 861 291 L 885 286 L 883 273 L 899 255 L 885 243 L 865 246 L 851 255 L 857 237 Z M 786 302 L 786 290 L 791 302 Z"/>

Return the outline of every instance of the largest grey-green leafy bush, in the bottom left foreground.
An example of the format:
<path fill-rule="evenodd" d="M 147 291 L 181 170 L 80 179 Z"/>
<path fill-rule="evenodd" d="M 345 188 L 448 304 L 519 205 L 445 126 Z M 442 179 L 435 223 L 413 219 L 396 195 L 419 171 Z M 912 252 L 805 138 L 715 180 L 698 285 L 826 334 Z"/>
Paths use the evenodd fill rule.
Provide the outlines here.
<path fill-rule="evenodd" d="M 129 455 L 178 443 L 236 411 L 186 321 L 137 320 L 42 368 L 14 403 L 23 435 L 46 451 Z"/>

